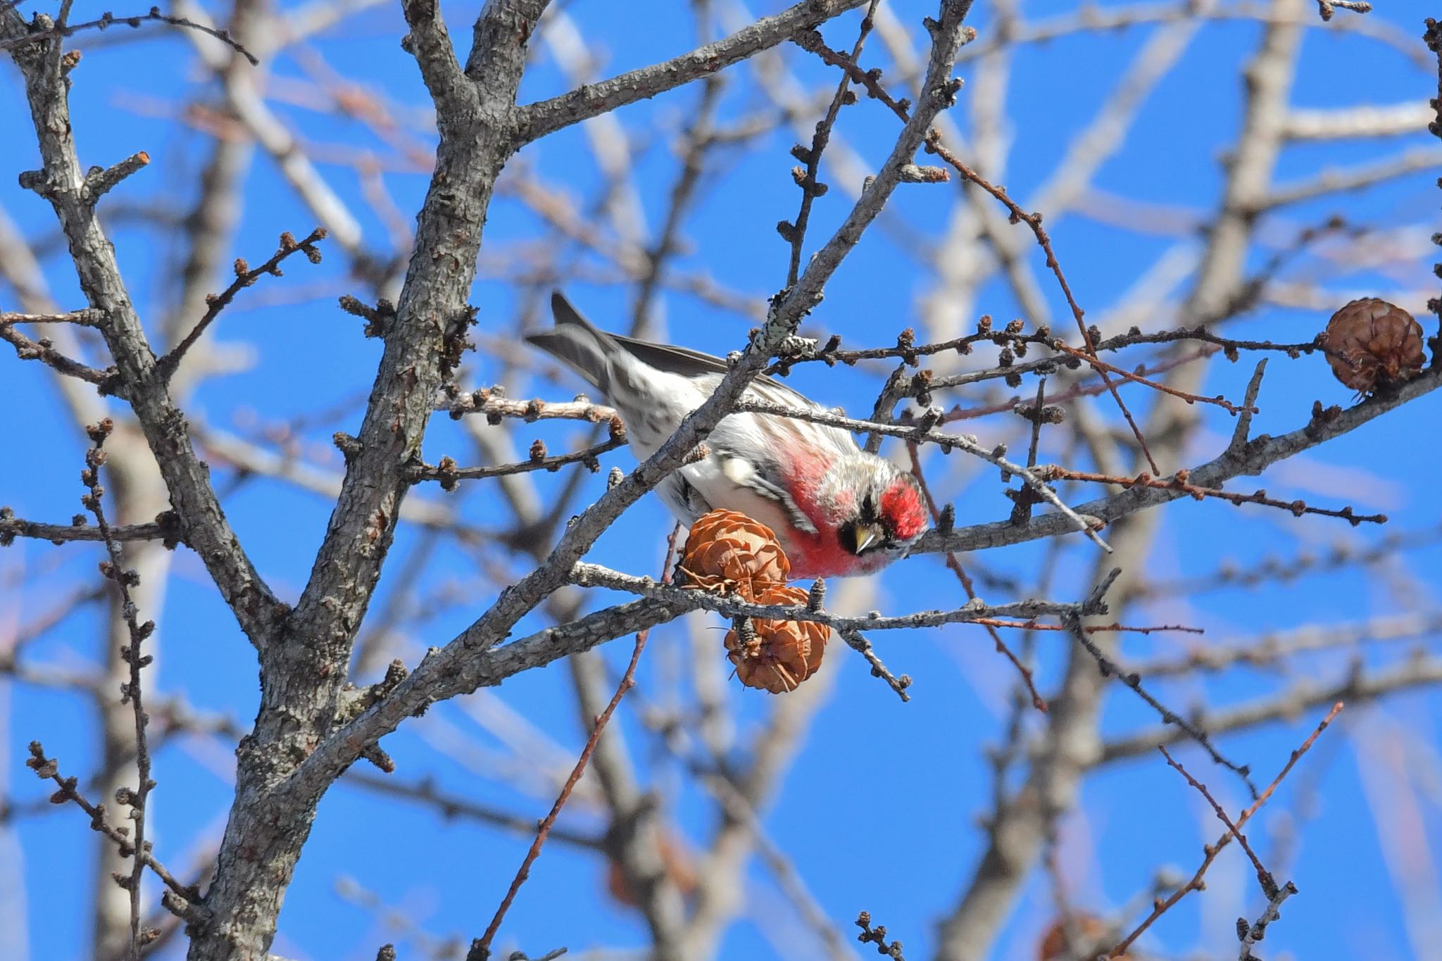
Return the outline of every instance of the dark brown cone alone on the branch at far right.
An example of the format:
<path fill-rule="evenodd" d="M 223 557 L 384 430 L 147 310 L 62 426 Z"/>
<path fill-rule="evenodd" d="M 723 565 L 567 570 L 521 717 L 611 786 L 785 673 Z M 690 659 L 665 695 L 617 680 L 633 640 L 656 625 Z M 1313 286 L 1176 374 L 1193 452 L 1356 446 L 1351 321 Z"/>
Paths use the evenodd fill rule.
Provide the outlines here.
<path fill-rule="evenodd" d="M 1422 324 L 1376 297 L 1354 300 L 1332 314 L 1321 344 L 1337 379 L 1358 393 L 1410 380 L 1428 362 Z"/>

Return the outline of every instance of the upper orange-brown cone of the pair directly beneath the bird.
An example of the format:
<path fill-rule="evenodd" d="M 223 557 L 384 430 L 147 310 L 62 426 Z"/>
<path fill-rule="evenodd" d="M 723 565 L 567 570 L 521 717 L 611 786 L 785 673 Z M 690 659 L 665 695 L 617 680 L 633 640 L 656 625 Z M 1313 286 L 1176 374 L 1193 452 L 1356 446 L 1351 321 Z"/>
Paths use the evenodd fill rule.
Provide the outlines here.
<path fill-rule="evenodd" d="M 786 584 L 792 565 L 766 524 L 734 510 L 712 510 L 691 524 L 681 552 L 681 582 L 754 601 Z"/>

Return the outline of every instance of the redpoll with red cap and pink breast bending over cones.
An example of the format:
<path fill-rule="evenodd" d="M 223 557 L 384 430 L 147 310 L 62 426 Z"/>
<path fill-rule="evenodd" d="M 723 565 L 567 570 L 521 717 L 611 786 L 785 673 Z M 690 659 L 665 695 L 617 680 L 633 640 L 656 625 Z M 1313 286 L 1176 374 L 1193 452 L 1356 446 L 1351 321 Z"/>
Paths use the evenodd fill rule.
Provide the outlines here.
<path fill-rule="evenodd" d="M 720 357 L 597 330 L 559 292 L 555 328 L 526 340 L 600 389 L 626 422 L 630 447 L 647 458 L 711 396 Z M 747 396 L 825 411 L 760 376 Z M 901 556 L 926 529 L 916 478 L 857 447 L 851 435 L 795 418 L 733 414 L 705 439 L 709 455 L 672 473 L 658 493 L 682 522 L 738 510 L 776 532 L 797 578 L 871 573 Z"/>

